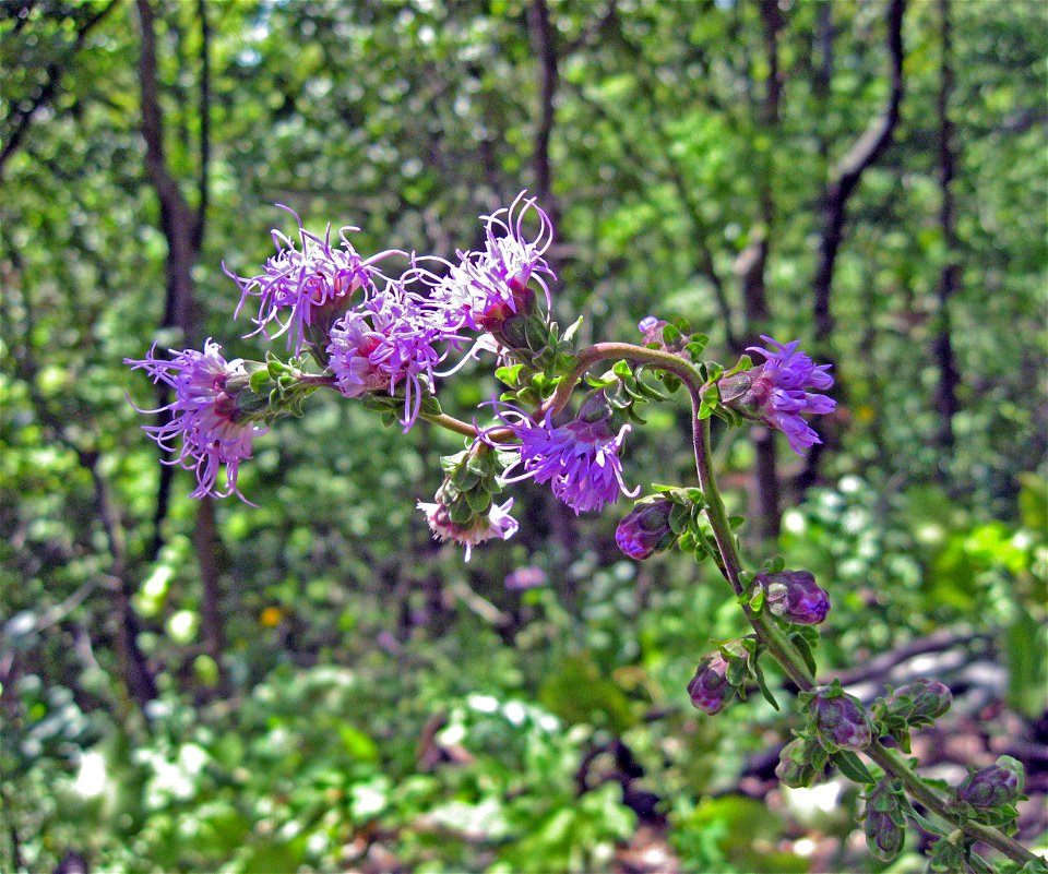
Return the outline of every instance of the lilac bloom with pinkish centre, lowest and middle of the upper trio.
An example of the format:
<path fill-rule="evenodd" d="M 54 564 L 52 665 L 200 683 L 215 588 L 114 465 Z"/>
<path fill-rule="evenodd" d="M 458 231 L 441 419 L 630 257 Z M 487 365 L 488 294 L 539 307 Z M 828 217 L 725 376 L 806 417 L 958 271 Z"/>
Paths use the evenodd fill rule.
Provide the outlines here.
<path fill-rule="evenodd" d="M 335 385 L 346 397 L 367 392 L 394 394 L 404 384 L 404 430 L 418 418 L 422 393 L 444 357 L 434 344 L 449 339 L 431 311 L 391 283 L 331 326 L 327 346 Z M 426 378 L 426 386 L 421 378 Z"/>

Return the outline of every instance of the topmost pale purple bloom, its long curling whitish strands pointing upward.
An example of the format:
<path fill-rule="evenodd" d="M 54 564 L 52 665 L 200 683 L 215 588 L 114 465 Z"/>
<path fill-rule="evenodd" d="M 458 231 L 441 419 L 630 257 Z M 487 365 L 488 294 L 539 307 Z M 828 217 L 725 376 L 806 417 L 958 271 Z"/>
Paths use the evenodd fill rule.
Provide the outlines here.
<path fill-rule="evenodd" d="M 486 225 L 484 251 L 460 251 L 458 264 L 443 262 L 443 276 L 416 267 L 418 278 L 432 288 L 430 298 L 441 308 L 452 331 L 491 331 L 529 307 L 534 300 L 527 287 L 532 278 L 546 294 L 547 308 L 550 306 L 544 277 L 556 276 L 544 255 L 552 242 L 553 226 L 535 204 L 535 197 L 525 199 L 526 193 L 517 194 L 509 208 L 481 216 Z M 538 229 L 528 238 L 524 222 L 532 212 Z"/>

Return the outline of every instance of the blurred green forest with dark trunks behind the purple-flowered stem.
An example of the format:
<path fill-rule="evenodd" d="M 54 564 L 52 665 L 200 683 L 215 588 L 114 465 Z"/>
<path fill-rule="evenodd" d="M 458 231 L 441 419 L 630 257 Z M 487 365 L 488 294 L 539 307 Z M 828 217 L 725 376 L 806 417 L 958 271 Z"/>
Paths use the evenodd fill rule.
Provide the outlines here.
<path fill-rule="evenodd" d="M 584 342 L 655 313 L 724 361 L 772 333 L 835 362 L 822 451 L 720 440 L 750 554 L 831 591 L 825 675 L 867 701 L 950 682 L 928 773 L 1015 755 L 1044 841 L 1040 2 L 0 14 L 0 867 L 883 869 L 855 787 L 776 788 L 788 717 L 689 706 L 739 611 L 683 556 L 624 560 L 620 514 L 524 486 L 520 534 L 464 564 L 415 510 L 445 433 L 315 397 L 257 442 L 253 508 L 188 500 L 139 430 L 123 357 L 209 336 L 262 357 L 221 264 L 272 253 L 274 203 L 359 225 L 364 253 L 451 256 L 525 187 Z M 469 417 L 493 390 L 480 367 L 441 399 Z M 631 483 L 691 482 L 687 422 L 651 412 Z"/>

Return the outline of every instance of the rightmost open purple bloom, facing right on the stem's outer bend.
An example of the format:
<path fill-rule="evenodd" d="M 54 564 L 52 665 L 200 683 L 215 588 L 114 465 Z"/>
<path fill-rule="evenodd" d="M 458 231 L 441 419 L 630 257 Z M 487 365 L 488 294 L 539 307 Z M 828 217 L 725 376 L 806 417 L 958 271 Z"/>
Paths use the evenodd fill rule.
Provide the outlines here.
<path fill-rule="evenodd" d="M 801 414 L 821 415 L 832 411 L 836 406 L 832 398 L 808 391 L 825 391 L 833 385 L 833 376 L 826 372 L 830 364 L 817 366 L 805 352 L 798 351 L 800 340 L 784 346 L 764 335 L 761 335 L 761 339 L 771 349 L 750 346 L 747 351 L 758 352 L 767 360 L 763 368 L 749 371 L 752 378 L 749 392 L 740 403 L 743 407 L 757 407 L 759 418 L 785 433 L 795 452 L 803 453 L 822 441 L 800 418 Z"/>

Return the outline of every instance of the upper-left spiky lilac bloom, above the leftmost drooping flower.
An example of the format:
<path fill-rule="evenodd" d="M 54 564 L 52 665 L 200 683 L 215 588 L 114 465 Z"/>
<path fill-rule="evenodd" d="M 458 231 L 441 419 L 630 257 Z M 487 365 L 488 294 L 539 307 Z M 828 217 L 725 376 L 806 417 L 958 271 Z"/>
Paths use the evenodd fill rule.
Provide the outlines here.
<path fill-rule="evenodd" d="M 269 339 L 287 334 L 288 348 L 298 355 L 306 339 L 305 331 L 317 320 L 319 311 L 345 307 L 361 289 L 368 297 L 374 289 L 373 277 L 379 275 L 376 262 L 404 253 L 391 249 L 361 259 L 346 239 L 347 232 L 358 228 L 340 228 L 338 243 L 332 246 L 331 225 L 323 237 L 318 237 L 302 227 L 297 213 L 286 206 L 281 208 L 295 216 L 298 241 L 274 230 L 276 254 L 266 260 L 262 273 L 245 277 L 231 273 L 225 264 L 223 270 L 240 289 L 240 303 L 234 315 L 240 314 L 248 298 L 258 298 L 259 314 L 252 319 L 258 328 L 252 334 L 261 333 Z"/>

